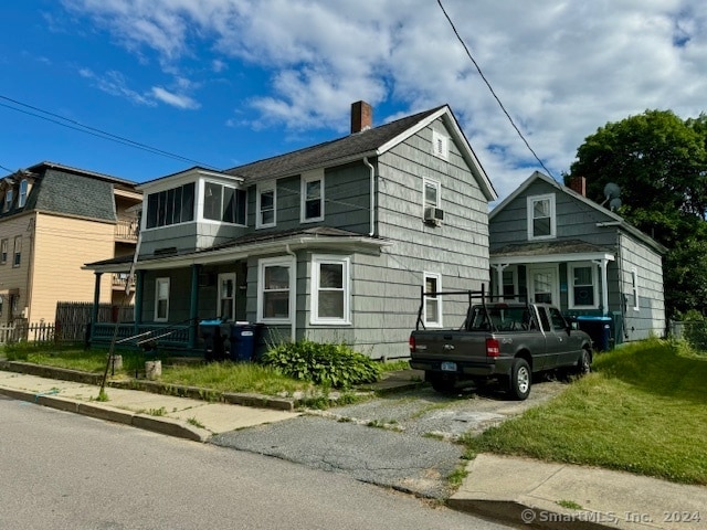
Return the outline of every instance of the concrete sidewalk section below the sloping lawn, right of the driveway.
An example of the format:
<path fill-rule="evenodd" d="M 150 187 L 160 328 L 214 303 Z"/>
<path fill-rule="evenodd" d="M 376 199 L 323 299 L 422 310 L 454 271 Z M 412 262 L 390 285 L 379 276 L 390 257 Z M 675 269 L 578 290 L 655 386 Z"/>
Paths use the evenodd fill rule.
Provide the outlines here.
<path fill-rule="evenodd" d="M 707 529 L 707 488 L 701 486 L 486 454 L 472 460 L 467 471 L 449 505 L 510 523 L 553 529 Z"/>

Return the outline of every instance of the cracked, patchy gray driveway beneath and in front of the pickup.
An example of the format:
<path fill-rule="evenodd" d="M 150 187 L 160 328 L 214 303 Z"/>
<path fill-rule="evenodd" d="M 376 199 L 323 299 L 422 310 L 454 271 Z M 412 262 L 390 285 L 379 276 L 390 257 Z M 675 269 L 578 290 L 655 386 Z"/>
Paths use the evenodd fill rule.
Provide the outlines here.
<path fill-rule="evenodd" d="M 540 382 L 532 385 L 528 400 L 518 402 L 493 386 L 456 395 L 423 386 L 223 433 L 212 443 L 444 499 L 451 494 L 447 477 L 465 463 L 464 447 L 455 443 L 462 434 L 481 433 L 566 388 L 558 381 Z"/>

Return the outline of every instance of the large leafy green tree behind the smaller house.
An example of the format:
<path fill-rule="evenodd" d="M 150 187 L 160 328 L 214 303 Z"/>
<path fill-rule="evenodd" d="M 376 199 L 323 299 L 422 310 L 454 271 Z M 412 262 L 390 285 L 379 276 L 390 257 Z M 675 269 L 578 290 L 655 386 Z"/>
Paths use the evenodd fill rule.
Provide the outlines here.
<path fill-rule="evenodd" d="M 668 317 L 706 312 L 707 117 L 646 110 L 609 123 L 578 148 L 566 182 L 572 177 L 587 178 L 587 194 L 598 203 L 606 203 L 608 183 L 618 184 L 618 213 L 668 248 Z"/>

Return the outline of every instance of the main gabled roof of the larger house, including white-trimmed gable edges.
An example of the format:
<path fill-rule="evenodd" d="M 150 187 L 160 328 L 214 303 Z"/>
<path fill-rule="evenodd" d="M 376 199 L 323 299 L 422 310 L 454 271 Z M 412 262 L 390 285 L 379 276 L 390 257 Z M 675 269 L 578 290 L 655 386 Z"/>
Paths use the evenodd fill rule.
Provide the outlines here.
<path fill-rule="evenodd" d="M 378 157 L 423 129 L 437 118 L 442 118 L 454 135 L 462 156 L 472 168 L 484 195 L 493 201 L 497 199 L 490 180 L 482 168 L 462 129 L 447 105 L 423 113 L 407 116 L 379 127 L 316 146 L 287 152 L 244 166 L 226 170 L 229 174 L 243 177 L 247 183 L 299 174 L 304 171 L 328 168 L 360 160 L 363 157 Z"/>

